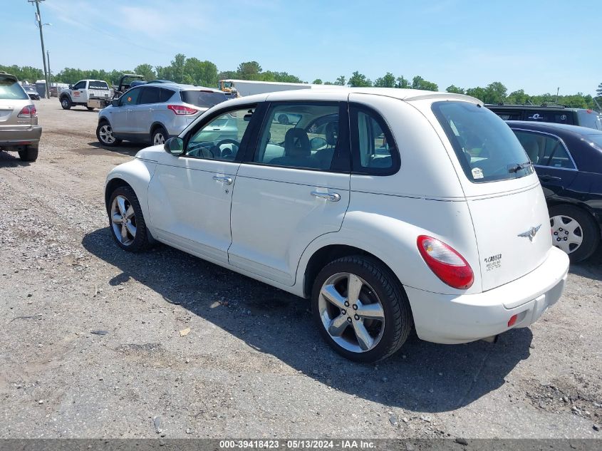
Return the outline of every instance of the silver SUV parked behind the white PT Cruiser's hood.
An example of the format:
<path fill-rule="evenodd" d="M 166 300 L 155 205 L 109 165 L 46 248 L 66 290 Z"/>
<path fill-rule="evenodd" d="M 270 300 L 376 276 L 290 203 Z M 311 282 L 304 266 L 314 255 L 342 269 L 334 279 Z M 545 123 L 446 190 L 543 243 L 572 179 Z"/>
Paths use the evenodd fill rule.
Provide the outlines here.
<path fill-rule="evenodd" d="M 122 140 L 163 144 L 204 111 L 227 100 L 220 90 L 175 83 L 131 88 L 98 113 L 96 137 L 106 146 Z"/>

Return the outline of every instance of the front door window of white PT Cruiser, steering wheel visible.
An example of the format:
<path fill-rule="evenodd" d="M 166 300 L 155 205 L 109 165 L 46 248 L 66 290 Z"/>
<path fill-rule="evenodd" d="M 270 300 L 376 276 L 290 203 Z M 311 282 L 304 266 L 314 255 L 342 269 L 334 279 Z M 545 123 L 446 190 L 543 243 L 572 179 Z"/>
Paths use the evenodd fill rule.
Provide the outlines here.
<path fill-rule="evenodd" d="M 208 160 L 234 161 L 254 108 L 224 112 L 192 132 L 184 155 Z"/>

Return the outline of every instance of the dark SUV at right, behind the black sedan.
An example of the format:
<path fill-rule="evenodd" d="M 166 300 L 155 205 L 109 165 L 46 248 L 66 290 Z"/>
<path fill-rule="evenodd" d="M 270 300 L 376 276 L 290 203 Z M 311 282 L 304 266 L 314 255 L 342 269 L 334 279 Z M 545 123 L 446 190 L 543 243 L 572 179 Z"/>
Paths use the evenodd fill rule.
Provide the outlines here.
<path fill-rule="evenodd" d="M 553 122 L 602 130 L 598 113 L 586 108 L 569 108 L 556 103 L 536 105 L 485 105 L 504 120 Z"/>

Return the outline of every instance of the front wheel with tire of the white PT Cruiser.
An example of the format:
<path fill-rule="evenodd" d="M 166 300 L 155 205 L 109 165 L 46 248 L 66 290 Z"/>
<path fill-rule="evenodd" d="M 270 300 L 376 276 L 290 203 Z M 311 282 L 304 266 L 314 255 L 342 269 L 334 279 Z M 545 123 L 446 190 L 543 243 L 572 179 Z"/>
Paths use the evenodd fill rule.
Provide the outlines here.
<path fill-rule="evenodd" d="M 140 252 L 150 246 L 140 202 L 128 186 L 115 188 L 109 200 L 109 227 L 121 249 Z"/>

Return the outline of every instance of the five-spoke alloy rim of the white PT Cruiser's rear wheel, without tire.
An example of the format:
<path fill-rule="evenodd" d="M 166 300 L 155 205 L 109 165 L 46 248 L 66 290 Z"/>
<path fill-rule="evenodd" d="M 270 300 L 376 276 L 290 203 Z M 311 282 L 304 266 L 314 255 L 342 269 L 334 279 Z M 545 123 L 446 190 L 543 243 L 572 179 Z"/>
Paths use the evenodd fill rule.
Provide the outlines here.
<path fill-rule="evenodd" d="M 320 289 L 318 311 L 328 335 L 347 351 L 370 351 L 383 338 L 383 304 L 370 284 L 356 274 L 329 277 Z"/>

